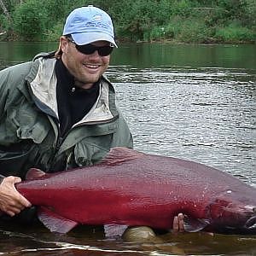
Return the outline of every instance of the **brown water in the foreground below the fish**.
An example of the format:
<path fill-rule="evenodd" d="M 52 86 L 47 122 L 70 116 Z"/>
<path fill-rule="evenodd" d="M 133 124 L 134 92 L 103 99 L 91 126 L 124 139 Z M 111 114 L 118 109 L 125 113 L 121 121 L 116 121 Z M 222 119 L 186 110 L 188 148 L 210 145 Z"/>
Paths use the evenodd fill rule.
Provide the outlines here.
<path fill-rule="evenodd" d="M 42 226 L 2 227 L 0 255 L 255 255 L 254 236 L 167 234 L 151 242 L 104 240 L 101 230 L 78 228 L 65 236 Z"/>

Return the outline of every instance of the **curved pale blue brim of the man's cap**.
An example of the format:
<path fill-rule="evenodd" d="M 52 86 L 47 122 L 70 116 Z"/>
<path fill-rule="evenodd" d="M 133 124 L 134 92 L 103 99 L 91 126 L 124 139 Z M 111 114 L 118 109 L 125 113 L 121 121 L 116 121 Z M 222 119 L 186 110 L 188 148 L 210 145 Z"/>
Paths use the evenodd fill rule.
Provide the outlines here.
<path fill-rule="evenodd" d="M 113 44 L 118 48 L 117 44 L 114 42 L 114 39 L 106 33 L 103 32 L 82 32 L 82 33 L 73 33 L 71 34 L 74 42 L 79 45 L 91 44 L 96 41 L 107 41 Z"/>

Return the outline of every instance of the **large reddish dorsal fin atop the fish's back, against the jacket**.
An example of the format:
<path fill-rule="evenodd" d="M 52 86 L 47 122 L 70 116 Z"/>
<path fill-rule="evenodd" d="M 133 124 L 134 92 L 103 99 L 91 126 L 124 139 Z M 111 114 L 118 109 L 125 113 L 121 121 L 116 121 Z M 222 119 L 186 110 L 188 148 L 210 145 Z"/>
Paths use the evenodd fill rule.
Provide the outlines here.
<path fill-rule="evenodd" d="M 131 148 L 115 147 L 111 148 L 100 165 L 115 166 L 127 160 L 142 158 L 145 154 Z"/>

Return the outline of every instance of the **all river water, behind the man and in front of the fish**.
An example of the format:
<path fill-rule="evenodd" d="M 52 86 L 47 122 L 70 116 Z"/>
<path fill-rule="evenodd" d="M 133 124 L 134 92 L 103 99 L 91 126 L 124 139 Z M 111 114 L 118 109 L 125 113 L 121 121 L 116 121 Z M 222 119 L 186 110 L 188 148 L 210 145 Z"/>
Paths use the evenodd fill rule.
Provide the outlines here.
<path fill-rule="evenodd" d="M 0 43 L 0 69 L 55 48 Z M 255 45 L 120 44 L 107 75 L 136 149 L 195 160 L 256 188 Z M 40 225 L 0 227 L 3 255 L 254 255 L 255 241 L 198 233 L 128 243 L 106 241 L 95 228 L 57 236 Z"/>

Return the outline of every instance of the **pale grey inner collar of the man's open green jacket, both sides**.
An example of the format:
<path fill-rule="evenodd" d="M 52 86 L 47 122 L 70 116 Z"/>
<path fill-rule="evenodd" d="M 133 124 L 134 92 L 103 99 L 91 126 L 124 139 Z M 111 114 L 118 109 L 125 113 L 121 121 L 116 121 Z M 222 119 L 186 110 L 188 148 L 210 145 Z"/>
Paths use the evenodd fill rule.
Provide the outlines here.
<path fill-rule="evenodd" d="M 32 96 L 38 108 L 58 117 L 55 62 L 55 58 L 45 58 L 44 56 L 36 58 L 32 62 L 31 72 L 27 75 L 26 79 L 30 84 Z M 90 109 L 90 112 L 75 125 L 108 122 L 116 119 L 118 115 L 113 86 L 109 83 L 108 79 L 102 77 L 100 93 L 96 103 Z"/>

